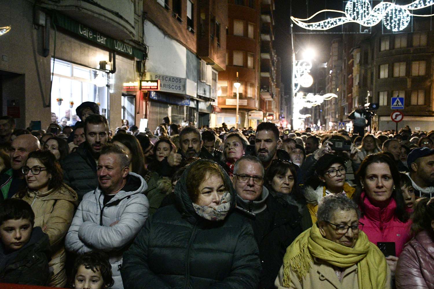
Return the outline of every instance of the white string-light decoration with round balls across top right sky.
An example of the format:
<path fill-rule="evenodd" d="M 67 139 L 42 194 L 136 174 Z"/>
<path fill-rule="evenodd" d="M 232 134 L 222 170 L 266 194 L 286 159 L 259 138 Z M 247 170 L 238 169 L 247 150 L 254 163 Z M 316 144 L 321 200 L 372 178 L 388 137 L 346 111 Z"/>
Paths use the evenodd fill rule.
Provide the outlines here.
<path fill-rule="evenodd" d="M 434 5 L 434 0 L 415 0 L 406 5 L 398 5 L 391 2 L 381 2 L 372 8 L 368 0 L 349 0 L 345 5 L 345 11 L 321 10 L 309 18 L 301 19 L 291 16 L 296 25 L 309 30 L 327 30 L 345 23 L 358 23 L 362 26 L 375 26 L 383 21 L 384 26 L 394 32 L 403 30 L 408 26 L 411 16 L 433 16 L 413 14 L 410 11 L 426 8 Z M 316 15 L 322 12 L 343 13 L 345 16 L 326 19 L 319 22 L 308 23 Z"/>

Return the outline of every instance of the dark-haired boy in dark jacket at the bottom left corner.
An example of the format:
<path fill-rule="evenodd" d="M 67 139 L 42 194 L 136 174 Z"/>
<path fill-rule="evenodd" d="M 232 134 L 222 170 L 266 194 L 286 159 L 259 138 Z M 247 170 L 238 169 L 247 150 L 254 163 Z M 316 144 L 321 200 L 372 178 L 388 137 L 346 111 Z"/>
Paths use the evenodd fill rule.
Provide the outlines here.
<path fill-rule="evenodd" d="M 0 203 L 0 283 L 47 285 L 50 245 L 42 229 L 33 227 L 34 220 L 25 201 Z"/>

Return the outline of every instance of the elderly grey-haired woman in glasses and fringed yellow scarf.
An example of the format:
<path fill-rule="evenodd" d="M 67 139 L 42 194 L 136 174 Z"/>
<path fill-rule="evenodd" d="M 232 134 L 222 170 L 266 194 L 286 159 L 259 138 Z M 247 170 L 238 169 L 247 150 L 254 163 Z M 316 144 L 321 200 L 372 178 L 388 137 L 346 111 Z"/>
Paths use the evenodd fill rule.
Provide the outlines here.
<path fill-rule="evenodd" d="M 279 289 L 389 289 L 391 273 L 369 242 L 354 201 L 342 194 L 319 202 L 318 222 L 286 249 L 276 278 Z"/>

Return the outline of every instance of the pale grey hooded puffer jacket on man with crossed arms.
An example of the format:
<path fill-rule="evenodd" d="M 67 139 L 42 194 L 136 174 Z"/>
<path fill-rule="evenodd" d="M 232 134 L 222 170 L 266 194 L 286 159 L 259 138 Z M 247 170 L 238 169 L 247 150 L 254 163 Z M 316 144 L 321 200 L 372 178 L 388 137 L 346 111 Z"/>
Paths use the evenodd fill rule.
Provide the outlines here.
<path fill-rule="evenodd" d="M 122 254 L 148 218 L 149 202 L 143 194 L 147 188 L 140 175 L 130 172 L 124 188 L 104 206 L 104 194 L 99 188 L 88 192 L 66 234 L 65 247 L 69 251 L 82 254 L 97 250 L 109 254 L 115 281 L 112 289 L 123 288 Z"/>

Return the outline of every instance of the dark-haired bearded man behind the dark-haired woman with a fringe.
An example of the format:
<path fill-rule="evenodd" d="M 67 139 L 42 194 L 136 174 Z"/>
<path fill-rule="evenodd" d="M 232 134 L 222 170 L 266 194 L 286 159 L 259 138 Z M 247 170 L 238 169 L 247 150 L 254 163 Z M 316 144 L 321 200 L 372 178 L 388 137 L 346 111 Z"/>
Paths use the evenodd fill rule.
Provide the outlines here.
<path fill-rule="evenodd" d="M 273 159 L 290 160 L 289 154 L 280 149 L 282 140 L 279 129 L 274 123 L 263 122 L 256 128 L 255 155 L 260 159 L 265 169 L 268 169 Z"/>

